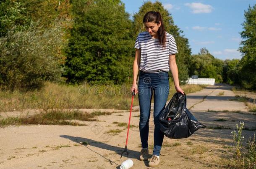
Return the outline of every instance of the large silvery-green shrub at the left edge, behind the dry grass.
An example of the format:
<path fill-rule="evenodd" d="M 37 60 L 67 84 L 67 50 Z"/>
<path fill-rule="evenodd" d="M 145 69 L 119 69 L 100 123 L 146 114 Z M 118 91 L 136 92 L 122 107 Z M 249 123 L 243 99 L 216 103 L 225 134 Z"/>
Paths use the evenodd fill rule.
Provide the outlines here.
<path fill-rule="evenodd" d="M 0 38 L 0 84 L 2 88 L 40 88 L 46 80 L 61 76 L 64 31 L 56 23 L 44 29 L 31 24 L 28 30 L 8 31 Z"/>

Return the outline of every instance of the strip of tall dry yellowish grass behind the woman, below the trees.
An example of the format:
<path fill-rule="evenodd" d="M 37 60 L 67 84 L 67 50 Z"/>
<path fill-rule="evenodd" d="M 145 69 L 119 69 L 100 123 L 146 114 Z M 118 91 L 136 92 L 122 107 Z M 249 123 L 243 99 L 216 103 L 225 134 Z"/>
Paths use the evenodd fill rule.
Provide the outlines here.
<path fill-rule="evenodd" d="M 185 93 L 200 91 L 204 86 L 182 85 Z M 104 108 L 128 110 L 131 106 L 131 84 L 121 85 L 66 85 L 45 82 L 39 91 L 3 91 L 0 90 L 0 111 L 21 111 L 25 109 L 56 108 Z M 169 98 L 175 93 L 170 81 Z M 138 105 L 138 96 L 133 106 Z"/>

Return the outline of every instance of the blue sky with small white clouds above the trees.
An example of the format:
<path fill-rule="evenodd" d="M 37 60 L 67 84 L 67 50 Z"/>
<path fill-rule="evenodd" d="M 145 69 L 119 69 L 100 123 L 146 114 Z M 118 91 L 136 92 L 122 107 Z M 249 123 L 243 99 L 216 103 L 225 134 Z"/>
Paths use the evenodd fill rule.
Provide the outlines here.
<path fill-rule="evenodd" d="M 133 15 L 145 0 L 121 0 L 126 12 Z M 155 0 L 150 0 L 155 2 Z M 206 48 L 215 58 L 240 59 L 238 51 L 243 40 L 240 32 L 244 11 L 256 0 L 159 0 L 171 14 L 174 24 L 188 38 L 192 54 Z"/>

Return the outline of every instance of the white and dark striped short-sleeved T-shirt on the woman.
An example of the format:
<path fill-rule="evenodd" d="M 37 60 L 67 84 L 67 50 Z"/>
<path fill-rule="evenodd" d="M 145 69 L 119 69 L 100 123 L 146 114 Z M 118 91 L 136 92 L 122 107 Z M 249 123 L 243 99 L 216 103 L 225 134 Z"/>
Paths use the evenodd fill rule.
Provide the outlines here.
<path fill-rule="evenodd" d="M 166 32 L 165 49 L 148 32 L 139 33 L 134 48 L 141 49 L 139 70 L 148 73 L 170 71 L 169 55 L 178 53 L 174 37 Z"/>

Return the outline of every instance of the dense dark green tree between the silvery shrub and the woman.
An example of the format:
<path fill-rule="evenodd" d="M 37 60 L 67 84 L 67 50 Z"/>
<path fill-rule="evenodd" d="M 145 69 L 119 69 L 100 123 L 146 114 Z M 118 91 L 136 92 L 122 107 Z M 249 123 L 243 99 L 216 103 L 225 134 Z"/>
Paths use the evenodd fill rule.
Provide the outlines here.
<path fill-rule="evenodd" d="M 74 23 L 63 76 L 71 83 L 127 81 L 134 40 L 124 4 L 77 0 L 72 6 Z"/>

